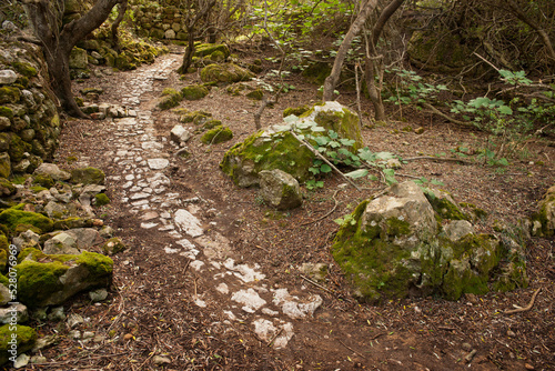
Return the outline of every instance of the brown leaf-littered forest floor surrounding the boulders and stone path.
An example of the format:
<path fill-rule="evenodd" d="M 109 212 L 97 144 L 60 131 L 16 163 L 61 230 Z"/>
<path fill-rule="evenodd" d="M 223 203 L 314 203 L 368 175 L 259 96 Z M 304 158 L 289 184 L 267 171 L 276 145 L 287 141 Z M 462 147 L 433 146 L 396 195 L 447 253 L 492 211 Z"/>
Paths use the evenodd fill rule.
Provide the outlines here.
<path fill-rule="evenodd" d="M 244 60 L 260 58 L 256 51 L 234 52 Z M 332 174 L 324 179 L 323 189 L 303 187 L 303 207 L 289 212 L 272 210 L 261 202 L 255 189 L 238 188 L 219 168 L 224 152 L 255 131 L 253 113 L 260 104 L 232 97 L 225 88 L 213 88 L 204 99 L 183 101 L 180 107 L 211 112 L 232 129 L 233 140 L 205 146 L 195 136 L 188 142 L 192 157 L 175 157 L 176 147 L 169 138 L 179 117 L 171 110 L 155 109 L 155 103 L 164 88 L 180 89 L 200 82 L 198 73 L 179 79 L 175 70 L 181 58 L 175 51 L 135 71 L 99 73 L 82 84 L 75 83 L 75 91 L 102 88 L 100 102 L 128 102 L 139 113 L 138 128 L 130 126 L 127 131 L 122 131 L 123 123 L 111 120 L 69 121 L 57 154 L 61 167 L 71 167 L 67 159 L 77 157 L 78 164 L 98 167 L 107 173 L 112 202 L 99 217 L 115 229 L 115 235 L 129 249 L 114 257 L 113 287 L 105 302 L 92 304 L 81 295 L 67 305 L 67 313 L 87 319 L 81 330 L 101 335 L 100 340 L 78 342 L 67 337 L 63 325 L 43 325 L 40 334 L 58 333 L 59 344 L 43 351 L 48 363 L 30 364 L 29 369 L 555 369 L 554 241 L 534 238 L 527 242 L 528 288 L 465 295 L 456 302 L 431 297 L 392 300 L 381 305 L 359 303 L 330 254 L 339 228 L 333 220 L 352 212 L 383 186 L 361 181 L 366 189 L 357 191 L 344 187 L 344 180 Z M 268 70 L 273 68 L 265 63 Z M 105 68 L 99 68 L 102 70 Z M 150 82 L 135 93 L 138 100 L 133 103 L 130 92 L 135 83 L 144 83 L 141 79 L 148 73 Z M 263 126 L 280 123 L 287 107 L 319 100 L 317 87 L 302 77 L 293 76 L 287 82 L 296 89 L 283 94 L 273 108 L 266 108 Z M 339 101 L 356 109 L 354 92 L 342 92 Z M 362 110 L 372 112 L 365 99 Z M 452 151 L 466 148 L 471 163 L 410 161 L 398 173 L 437 179 L 456 201 L 487 211 L 487 218 L 480 223 L 484 232 L 492 231 L 496 220 L 516 224 L 529 217 L 554 183 L 555 148 L 541 141 L 519 143 L 508 159 L 509 166 L 500 168 L 473 156 L 486 146 L 486 134 L 428 113 L 405 109 L 397 110 L 384 126 L 370 126 L 367 117 L 364 121 L 364 141 L 372 151 L 389 151 L 403 158 L 442 152 L 448 157 Z M 422 127 L 424 132 L 416 134 L 407 127 Z M 134 136 L 133 130 L 143 134 Z M 149 148 L 157 151 L 158 158 L 169 160 L 168 167 L 160 167 L 170 180 L 162 194 L 173 203 L 151 208 L 153 200 L 133 205 L 124 178 L 134 168 L 133 159 L 128 158 L 129 162 L 119 158 L 125 151 L 137 157 Z M 144 158 L 144 153 L 141 156 Z M 137 160 L 139 168 L 141 160 Z M 170 222 L 170 227 L 164 224 L 171 218 L 161 219 L 164 211 L 174 215 L 176 210 L 188 210 L 200 221 L 202 235 L 189 238 L 200 250 L 196 254 L 180 250 L 175 241 L 183 237 L 183 231 L 175 232 Z M 230 262 L 229 258 L 233 260 Z M 329 274 L 317 285 L 305 280 L 300 271 L 300 265 L 307 262 L 329 267 Z M 283 289 L 296 297 L 297 303 L 320 305 L 311 315 L 291 318 L 283 307 L 271 303 L 272 293 Z M 531 310 L 504 314 L 515 304 L 528 304 L 538 289 Z M 254 293 L 268 303 L 260 305 L 266 310 L 241 302 L 238 292 Z M 242 303 L 251 305 L 248 311 Z M 264 325 L 265 332 L 260 330 Z"/>

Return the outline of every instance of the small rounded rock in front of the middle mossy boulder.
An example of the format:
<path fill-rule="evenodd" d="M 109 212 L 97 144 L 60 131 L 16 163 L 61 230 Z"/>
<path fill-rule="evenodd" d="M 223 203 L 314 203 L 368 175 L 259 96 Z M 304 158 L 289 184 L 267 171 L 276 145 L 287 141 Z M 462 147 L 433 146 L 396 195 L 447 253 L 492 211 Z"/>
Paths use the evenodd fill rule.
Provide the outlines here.
<path fill-rule="evenodd" d="M 280 169 L 263 170 L 259 176 L 260 194 L 272 207 L 290 210 L 302 204 L 302 194 L 295 178 Z"/>

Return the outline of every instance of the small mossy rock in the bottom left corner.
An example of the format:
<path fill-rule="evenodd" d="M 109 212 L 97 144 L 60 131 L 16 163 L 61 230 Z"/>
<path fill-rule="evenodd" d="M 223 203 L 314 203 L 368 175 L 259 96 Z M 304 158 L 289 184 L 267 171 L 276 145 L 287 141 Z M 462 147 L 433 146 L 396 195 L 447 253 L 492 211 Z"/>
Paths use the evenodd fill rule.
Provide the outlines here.
<path fill-rule="evenodd" d="M 31 350 L 37 342 L 37 332 L 27 325 L 4 324 L 0 327 L 0 365 L 14 362 L 18 354 Z"/>

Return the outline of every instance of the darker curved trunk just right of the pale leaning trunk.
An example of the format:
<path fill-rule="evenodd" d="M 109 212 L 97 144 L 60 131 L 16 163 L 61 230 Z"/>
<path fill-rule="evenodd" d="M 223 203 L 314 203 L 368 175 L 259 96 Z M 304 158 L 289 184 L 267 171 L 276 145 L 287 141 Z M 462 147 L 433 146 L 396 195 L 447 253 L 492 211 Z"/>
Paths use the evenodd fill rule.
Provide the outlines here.
<path fill-rule="evenodd" d="M 366 40 L 366 58 L 364 78 L 369 90 L 370 100 L 374 106 L 375 120 L 385 121 L 385 109 L 382 101 L 382 80 L 383 80 L 383 57 L 377 54 L 376 44 L 380 40 L 380 34 L 385 27 L 387 20 L 403 4 L 404 0 L 392 0 L 382 11 L 376 23 L 372 28 L 372 39 Z M 375 78 L 379 79 L 376 87 Z"/>

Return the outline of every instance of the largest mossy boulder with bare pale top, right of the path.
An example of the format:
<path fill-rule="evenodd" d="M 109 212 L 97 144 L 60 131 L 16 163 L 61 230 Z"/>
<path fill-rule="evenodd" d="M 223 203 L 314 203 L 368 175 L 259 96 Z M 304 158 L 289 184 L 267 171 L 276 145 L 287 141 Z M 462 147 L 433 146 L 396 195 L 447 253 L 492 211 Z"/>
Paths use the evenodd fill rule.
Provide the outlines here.
<path fill-rule="evenodd" d="M 346 215 L 332 254 L 355 295 L 380 302 L 432 293 L 457 300 L 463 293 L 525 287 L 522 254 L 508 250 L 493 234 L 475 234 L 465 220 L 443 220 L 418 186 L 404 182 Z"/>

